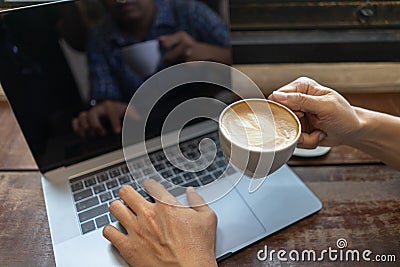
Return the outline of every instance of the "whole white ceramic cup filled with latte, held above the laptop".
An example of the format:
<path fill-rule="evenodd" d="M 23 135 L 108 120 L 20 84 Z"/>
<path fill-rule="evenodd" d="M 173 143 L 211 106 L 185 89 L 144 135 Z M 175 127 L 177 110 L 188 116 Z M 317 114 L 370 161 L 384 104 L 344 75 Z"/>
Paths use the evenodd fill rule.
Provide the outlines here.
<path fill-rule="evenodd" d="M 219 139 L 225 157 L 245 175 L 262 178 L 292 156 L 301 134 L 297 116 L 266 99 L 244 99 L 219 117 Z"/>

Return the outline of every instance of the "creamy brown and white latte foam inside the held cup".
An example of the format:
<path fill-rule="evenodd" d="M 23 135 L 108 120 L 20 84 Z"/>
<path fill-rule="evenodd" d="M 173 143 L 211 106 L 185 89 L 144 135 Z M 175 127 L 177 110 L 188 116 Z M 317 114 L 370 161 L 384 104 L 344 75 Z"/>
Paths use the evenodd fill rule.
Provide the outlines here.
<path fill-rule="evenodd" d="M 287 110 L 262 100 L 231 106 L 221 123 L 228 138 L 252 150 L 283 148 L 296 139 L 298 128 Z"/>

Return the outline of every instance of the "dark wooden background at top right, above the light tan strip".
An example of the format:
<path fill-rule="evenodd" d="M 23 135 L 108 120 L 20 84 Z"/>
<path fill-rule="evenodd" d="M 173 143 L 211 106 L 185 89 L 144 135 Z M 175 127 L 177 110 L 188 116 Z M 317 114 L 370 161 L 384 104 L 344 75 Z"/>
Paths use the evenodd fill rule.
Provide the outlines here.
<path fill-rule="evenodd" d="M 230 0 L 236 63 L 400 61 L 400 1 Z"/>

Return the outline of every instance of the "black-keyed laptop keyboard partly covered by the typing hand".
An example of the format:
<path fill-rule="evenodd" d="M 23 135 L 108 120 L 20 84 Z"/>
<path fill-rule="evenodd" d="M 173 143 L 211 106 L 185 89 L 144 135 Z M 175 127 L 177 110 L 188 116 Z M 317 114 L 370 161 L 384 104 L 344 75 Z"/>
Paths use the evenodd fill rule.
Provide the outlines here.
<path fill-rule="evenodd" d="M 111 202 L 119 199 L 118 191 L 123 185 L 132 186 L 145 199 L 153 202 L 151 196 L 136 181 L 140 182 L 147 178 L 155 179 L 172 195 L 178 196 L 185 192 L 185 188 L 182 187 L 206 185 L 220 177 L 235 173 L 235 169 L 228 165 L 222 154 L 218 132 L 212 132 L 180 143 L 179 147 L 182 154 L 188 159 L 197 160 L 200 157 L 198 150 L 199 142 L 204 138 L 210 138 L 215 142 L 217 145 L 217 154 L 213 162 L 201 171 L 188 172 L 177 168 L 168 161 L 164 152 L 159 150 L 149 153 L 148 157 L 142 156 L 130 160 L 128 164 L 132 169 L 132 173 L 129 172 L 124 162 L 95 173 L 71 179 L 71 190 L 75 201 L 78 221 L 81 226 L 81 233 L 86 234 L 116 221 L 116 218 L 109 213 L 109 206 Z M 207 164 L 213 159 L 213 149 L 207 146 L 205 148 L 205 161 L 197 162 L 196 166 Z M 184 159 L 179 158 L 178 153 L 174 153 L 174 149 L 176 149 L 176 146 L 166 148 L 165 150 L 168 152 L 168 155 L 174 155 L 174 162 L 183 162 Z M 184 169 L 194 169 L 194 166 L 191 164 L 193 163 L 187 162 L 181 167 L 184 167 Z M 154 171 L 151 165 L 154 166 L 157 172 Z M 226 172 L 222 175 L 225 169 Z"/>

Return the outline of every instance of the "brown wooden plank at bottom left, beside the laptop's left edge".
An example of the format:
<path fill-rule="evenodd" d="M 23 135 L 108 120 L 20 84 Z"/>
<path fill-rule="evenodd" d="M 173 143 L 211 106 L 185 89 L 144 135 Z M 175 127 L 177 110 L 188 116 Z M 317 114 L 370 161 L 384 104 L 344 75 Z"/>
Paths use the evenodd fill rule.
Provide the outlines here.
<path fill-rule="evenodd" d="M 0 266 L 54 266 L 39 172 L 0 173 Z"/>

